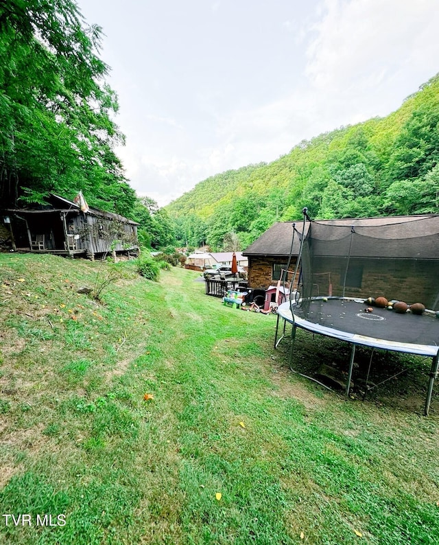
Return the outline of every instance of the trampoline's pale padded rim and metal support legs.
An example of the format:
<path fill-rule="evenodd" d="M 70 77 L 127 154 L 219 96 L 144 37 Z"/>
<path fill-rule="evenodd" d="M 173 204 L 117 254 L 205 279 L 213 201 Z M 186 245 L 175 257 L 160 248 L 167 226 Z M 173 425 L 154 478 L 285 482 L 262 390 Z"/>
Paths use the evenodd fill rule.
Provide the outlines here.
<path fill-rule="evenodd" d="M 312 297 L 311 299 L 316 300 L 316 299 L 328 299 L 328 298 Z M 352 297 L 334 297 L 329 299 L 344 299 L 344 300 L 351 300 L 351 301 L 357 301 L 357 302 L 364 301 L 364 299 L 360 300 L 360 299 L 352 298 Z M 305 318 L 301 318 L 300 316 L 296 316 L 296 314 L 294 314 L 294 307 L 300 302 L 301 301 L 297 301 L 297 302 L 287 301 L 278 307 L 277 321 L 276 321 L 276 334 L 274 336 L 274 348 L 277 348 L 279 343 L 281 343 L 281 340 L 283 340 L 283 338 L 285 338 L 286 336 L 285 330 L 286 330 L 287 323 L 292 324 L 292 334 L 291 334 L 292 343 L 291 343 L 291 349 L 289 354 L 289 367 L 292 371 L 295 371 L 292 368 L 292 358 L 293 358 L 293 352 L 294 352 L 294 345 L 296 342 L 296 329 L 298 327 L 300 327 L 300 329 L 305 329 L 314 334 L 319 334 L 319 335 L 323 335 L 323 336 L 327 336 L 331 338 L 337 338 L 339 340 L 342 340 L 352 345 L 351 357 L 349 359 L 349 366 L 348 366 L 348 379 L 346 381 L 346 389 L 345 389 L 346 397 L 349 395 L 349 391 L 351 389 L 353 364 L 355 360 L 355 349 L 357 346 L 371 347 L 372 349 L 379 348 L 379 349 L 388 350 L 388 351 L 411 353 L 416 356 L 430 357 L 431 370 L 429 373 L 429 383 L 428 383 L 427 397 L 425 399 L 425 408 L 424 408 L 425 416 L 428 416 L 429 408 L 431 404 L 431 395 L 433 393 L 434 381 L 436 380 L 436 378 L 438 378 L 438 374 L 439 374 L 439 346 L 418 345 L 414 343 L 401 343 L 401 342 L 396 342 L 392 340 L 385 340 L 381 338 L 364 336 L 361 334 L 348 333 L 348 332 L 342 331 L 341 329 L 335 329 L 333 327 L 327 327 L 324 325 L 320 325 L 318 323 L 313 323 L 309 320 L 306 320 Z M 281 318 L 283 319 L 283 328 L 281 327 L 281 336 L 279 336 L 279 323 Z M 302 374 L 302 373 L 299 373 L 299 374 Z M 302 375 L 302 376 L 305 376 L 309 378 L 310 380 L 313 380 L 314 382 L 318 382 L 318 384 L 322 384 L 322 382 L 312 377 L 309 377 L 307 375 Z M 322 384 L 322 386 L 326 388 L 328 387 L 325 384 Z M 366 387 L 367 387 L 367 382 L 366 382 Z"/>

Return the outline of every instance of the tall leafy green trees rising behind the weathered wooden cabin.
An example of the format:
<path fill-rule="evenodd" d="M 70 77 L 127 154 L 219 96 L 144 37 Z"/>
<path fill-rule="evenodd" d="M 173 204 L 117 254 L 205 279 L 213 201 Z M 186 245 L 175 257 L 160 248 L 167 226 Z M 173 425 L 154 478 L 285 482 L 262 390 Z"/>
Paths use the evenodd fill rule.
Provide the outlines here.
<path fill-rule="evenodd" d="M 73 0 L 0 3 L 0 196 L 43 202 L 48 192 L 129 214 L 129 187 L 114 147 L 117 96 L 99 58 L 102 30 Z"/>

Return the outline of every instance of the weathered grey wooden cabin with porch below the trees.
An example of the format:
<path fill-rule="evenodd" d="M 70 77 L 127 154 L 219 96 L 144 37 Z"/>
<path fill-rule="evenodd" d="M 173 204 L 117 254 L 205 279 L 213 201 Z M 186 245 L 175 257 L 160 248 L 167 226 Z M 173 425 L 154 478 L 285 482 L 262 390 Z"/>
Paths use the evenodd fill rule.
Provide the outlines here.
<path fill-rule="evenodd" d="M 137 223 L 50 194 L 47 205 L 0 209 L 3 239 L 13 250 L 94 259 L 106 253 L 137 253 Z"/>

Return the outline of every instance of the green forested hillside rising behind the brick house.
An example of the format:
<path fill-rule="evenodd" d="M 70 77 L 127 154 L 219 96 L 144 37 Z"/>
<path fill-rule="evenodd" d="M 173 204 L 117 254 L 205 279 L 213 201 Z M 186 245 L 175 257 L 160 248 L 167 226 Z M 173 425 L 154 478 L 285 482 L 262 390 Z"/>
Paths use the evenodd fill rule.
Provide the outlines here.
<path fill-rule="evenodd" d="M 276 220 L 439 211 L 439 75 L 385 118 L 302 141 L 270 164 L 217 174 L 165 207 L 193 246 L 250 244 Z M 232 236 L 233 239 L 233 236 Z"/>

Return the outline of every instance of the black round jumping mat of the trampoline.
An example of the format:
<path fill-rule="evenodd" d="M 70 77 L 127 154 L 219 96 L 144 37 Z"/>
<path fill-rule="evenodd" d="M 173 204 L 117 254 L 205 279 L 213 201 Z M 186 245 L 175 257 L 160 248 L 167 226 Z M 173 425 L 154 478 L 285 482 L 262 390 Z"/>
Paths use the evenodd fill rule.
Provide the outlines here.
<path fill-rule="evenodd" d="M 365 311 L 367 307 L 367 303 L 351 299 L 311 299 L 307 314 L 301 306 L 294 308 L 294 314 L 311 323 L 355 335 L 396 343 L 439 344 L 439 319 L 434 314 L 398 314 L 394 310 L 377 307 L 368 313 Z"/>

